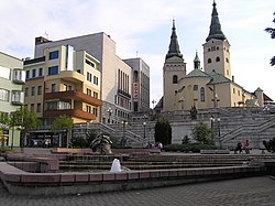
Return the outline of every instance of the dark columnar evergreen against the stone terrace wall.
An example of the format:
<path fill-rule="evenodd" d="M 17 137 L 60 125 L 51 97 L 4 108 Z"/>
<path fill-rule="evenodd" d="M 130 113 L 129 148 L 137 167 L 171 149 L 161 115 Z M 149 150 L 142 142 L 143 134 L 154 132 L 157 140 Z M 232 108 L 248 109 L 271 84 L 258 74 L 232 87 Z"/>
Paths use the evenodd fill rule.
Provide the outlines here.
<path fill-rule="evenodd" d="M 155 124 L 155 141 L 164 145 L 172 142 L 172 128 L 167 119 L 157 119 Z"/>

